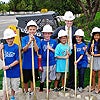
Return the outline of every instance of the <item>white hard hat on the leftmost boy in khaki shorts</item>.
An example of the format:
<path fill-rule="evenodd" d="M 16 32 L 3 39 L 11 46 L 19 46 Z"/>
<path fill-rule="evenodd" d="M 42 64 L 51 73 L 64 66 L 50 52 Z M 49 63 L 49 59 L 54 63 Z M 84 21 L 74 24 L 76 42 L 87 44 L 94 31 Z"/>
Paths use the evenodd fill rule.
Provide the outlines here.
<path fill-rule="evenodd" d="M 16 34 L 14 33 L 14 31 L 10 28 L 6 29 L 3 33 L 3 39 L 9 39 L 9 38 L 13 38 L 16 36 Z"/>

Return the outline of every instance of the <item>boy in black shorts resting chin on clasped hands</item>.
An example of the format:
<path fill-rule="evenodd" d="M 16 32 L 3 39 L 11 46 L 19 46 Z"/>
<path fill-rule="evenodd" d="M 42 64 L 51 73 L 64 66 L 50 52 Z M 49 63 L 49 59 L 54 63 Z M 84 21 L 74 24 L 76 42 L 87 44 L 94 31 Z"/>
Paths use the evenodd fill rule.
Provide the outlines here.
<path fill-rule="evenodd" d="M 24 76 L 24 87 L 26 94 L 33 94 L 33 76 L 32 76 L 32 41 L 34 45 L 34 67 L 35 67 L 35 78 L 38 77 L 38 55 L 37 52 L 40 48 L 40 39 L 35 36 L 37 31 L 37 24 L 31 20 L 27 23 L 26 29 L 29 33 L 27 36 L 22 38 L 22 49 L 23 49 L 23 76 Z M 28 92 L 28 82 L 30 83 L 30 91 Z"/>

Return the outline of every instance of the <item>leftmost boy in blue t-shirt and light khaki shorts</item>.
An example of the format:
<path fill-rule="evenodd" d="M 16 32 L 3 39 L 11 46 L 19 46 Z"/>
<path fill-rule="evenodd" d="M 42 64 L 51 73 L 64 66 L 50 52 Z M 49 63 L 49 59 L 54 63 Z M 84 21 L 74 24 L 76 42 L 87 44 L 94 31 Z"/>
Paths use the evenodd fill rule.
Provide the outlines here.
<path fill-rule="evenodd" d="M 6 29 L 4 31 L 3 39 L 6 40 L 7 44 L 0 44 L 0 58 L 2 59 L 2 49 L 4 48 L 4 61 L 5 66 L 3 70 L 6 70 L 7 75 L 7 86 L 8 89 L 11 88 L 11 98 L 10 100 L 15 100 L 15 92 L 19 89 L 20 84 L 20 67 L 19 67 L 19 52 L 18 45 L 14 44 L 14 37 L 16 34 L 11 29 Z M 6 100 L 6 84 L 3 78 L 3 100 Z"/>

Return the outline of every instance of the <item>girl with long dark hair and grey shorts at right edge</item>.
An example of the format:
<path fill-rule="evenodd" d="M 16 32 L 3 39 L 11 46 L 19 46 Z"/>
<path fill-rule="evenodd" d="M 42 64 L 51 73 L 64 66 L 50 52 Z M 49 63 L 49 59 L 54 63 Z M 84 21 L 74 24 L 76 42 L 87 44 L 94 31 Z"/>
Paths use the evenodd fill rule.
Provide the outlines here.
<path fill-rule="evenodd" d="M 92 30 L 92 39 L 88 45 L 88 53 L 93 55 L 93 70 L 92 70 L 92 88 L 91 91 L 95 90 L 95 78 L 96 72 L 98 72 L 98 88 L 95 90 L 95 93 L 100 92 L 100 28 L 94 27 Z M 92 45 L 92 41 L 94 40 L 94 45 Z M 93 52 L 91 51 L 91 48 Z"/>

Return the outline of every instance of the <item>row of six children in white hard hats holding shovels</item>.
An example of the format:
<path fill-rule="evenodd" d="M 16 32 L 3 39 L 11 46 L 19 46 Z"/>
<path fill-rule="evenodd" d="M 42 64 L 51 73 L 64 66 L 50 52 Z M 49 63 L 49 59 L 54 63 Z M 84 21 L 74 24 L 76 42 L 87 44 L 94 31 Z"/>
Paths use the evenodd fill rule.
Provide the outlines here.
<path fill-rule="evenodd" d="M 43 27 L 43 39 L 39 39 L 35 36 L 37 31 L 37 24 L 31 20 L 27 23 L 26 29 L 28 32 L 27 36 L 22 37 L 22 61 L 23 61 L 23 78 L 24 78 L 24 89 L 25 93 L 31 95 L 33 93 L 33 75 L 32 75 L 32 48 L 34 48 L 34 67 L 35 67 L 35 77 L 38 77 L 38 71 L 40 74 L 40 92 L 43 91 L 44 82 L 46 80 L 47 71 L 47 50 L 49 50 L 49 90 L 51 82 L 54 80 L 54 91 L 59 91 L 64 89 L 64 77 L 65 71 L 69 70 L 69 63 L 66 63 L 66 59 L 69 59 L 71 55 L 71 49 L 68 45 L 68 33 L 65 30 L 60 30 L 58 32 L 58 40 L 51 39 L 53 33 L 52 27 L 47 24 Z M 78 90 L 82 92 L 84 88 L 84 74 L 85 69 L 88 65 L 88 59 L 86 52 L 94 56 L 93 62 L 93 76 L 92 76 L 92 88 L 95 89 L 95 76 L 96 71 L 98 71 L 98 88 L 96 93 L 100 92 L 100 28 L 93 28 L 92 39 L 88 46 L 84 42 L 84 32 L 82 29 L 78 29 L 74 36 L 76 40 L 76 61 L 79 76 Z M 19 68 L 19 50 L 18 45 L 14 44 L 15 33 L 11 29 L 6 29 L 4 31 L 4 39 L 6 39 L 7 44 L 0 44 L 0 58 L 2 57 L 2 49 L 4 48 L 4 60 L 5 66 L 3 70 L 7 73 L 7 83 L 8 87 L 11 87 L 11 99 L 15 100 L 15 91 L 18 89 L 20 84 L 20 68 Z M 94 45 L 91 45 L 92 40 L 94 40 Z M 33 45 L 32 45 L 33 42 Z M 47 45 L 49 43 L 49 45 Z M 91 48 L 94 48 L 94 52 L 91 52 Z M 68 61 L 69 62 L 69 61 Z M 61 79 L 62 86 L 59 89 L 59 81 Z M 28 90 L 28 82 L 30 81 L 30 90 Z M 6 100 L 6 90 L 5 83 L 3 81 L 4 97 Z"/>

